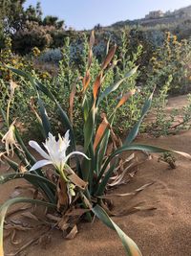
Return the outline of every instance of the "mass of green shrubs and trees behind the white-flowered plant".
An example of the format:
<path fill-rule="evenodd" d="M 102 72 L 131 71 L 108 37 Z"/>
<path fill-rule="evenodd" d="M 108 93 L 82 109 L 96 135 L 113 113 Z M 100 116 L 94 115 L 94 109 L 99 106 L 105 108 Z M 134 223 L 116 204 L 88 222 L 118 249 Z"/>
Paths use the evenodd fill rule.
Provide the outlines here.
<path fill-rule="evenodd" d="M 14 96 L 11 112 L 18 116 L 24 124 L 26 131 L 37 134 L 36 121 L 32 103 L 33 89 L 28 81 L 18 79 L 5 67 L 9 65 L 25 71 L 32 70 L 32 75 L 51 89 L 64 110 L 69 114 L 69 97 L 74 84 L 76 84 L 74 103 L 74 129 L 77 139 L 80 140 L 82 128 L 80 122 L 82 115 L 78 110 L 77 102 L 80 102 L 80 87 L 87 68 L 88 56 L 87 33 L 66 31 L 63 21 L 53 16 L 43 18 L 40 4 L 30 6 L 24 10 L 25 1 L 9 1 L 2 7 L 2 20 L 0 29 L 4 28 L 2 38 L 0 63 L 0 106 L 5 108 L 9 97 L 9 84 L 13 80 L 19 83 Z M 12 12 L 15 10 L 15 12 Z M 6 22 L 7 21 L 7 22 Z M 141 105 L 148 98 L 149 93 L 156 91 L 154 95 L 154 111 L 157 119 L 153 124 L 143 123 L 140 131 L 150 131 L 154 135 L 167 135 L 178 132 L 181 128 L 189 128 L 189 105 L 184 107 L 183 123 L 174 127 L 178 111 L 173 111 L 169 118 L 165 117 L 165 107 L 169 95 L 184 94 L 190 91 L 190 38 L 180 39 L 170 27 L 162 25 L 155 28 L 135 26 L 132 24 L 121 30 L 113 28 L 96 27 L 96 43 L 93 47 L 94 57 L 90 71 L 92 74 L 91 86 L 100 71 L 100 64 L 105 53 L 111 45 L 117 44 L 115 58 L 102 84 L 102 89 L 108 83 L 116 82 L 124 77 L 129 69 L 139 65 L 138 72 L 128 81 L 123 81 L 119 89 L 114 92 L 112 98 L 105 98 L 100 111 L 112 113 L 116 99 L 120 98 L 126 90 L 140 90 L 134 98 L 118 109 L 117 118 L 113 128 L 119 135 L 130 130 L 140 117 Z M 1 38 L 0 38 L 1 39 Z M 25 49 L 25 51 L 24 51 Z M 18 53 L 18 54 L 15 54 Z M 28 91 L 24 87 L 28 85 Z M 59 84 L 62 84 L 59 86 Z M 64 97 L 62 96 L 64 94 Z M 31 104 L 25 99 L 32 97 Z M 164 100 L 165 98 L 165 100 Z M 55 132 L 62 132 L 60 124 L 57 124 L 57 111 L 48 99 L 43 99 L 50 112 Z M 29 108 L 32 110 L 29 113 Z M 26 112 L 25 113 L 25 111 Z M 27 118 L 26 118 L 27 117 Z M 120 128 L 117 126 L 120 122 Z M 177 125 L 177 124 L 176 124 Z M 27 134 L 27 132 L 26 132 Z M 40 138 L 39 138 L 40 139 Z"/>

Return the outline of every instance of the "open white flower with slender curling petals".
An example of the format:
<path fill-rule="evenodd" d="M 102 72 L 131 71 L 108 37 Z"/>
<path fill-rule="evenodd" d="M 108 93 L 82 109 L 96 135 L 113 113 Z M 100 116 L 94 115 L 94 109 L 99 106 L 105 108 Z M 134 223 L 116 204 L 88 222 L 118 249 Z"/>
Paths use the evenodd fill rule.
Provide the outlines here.
<path fill-rule="evenodd" d="M 69 130 L 66 132 L 64 137 L 61 137 L 60 134 L 58 134 L 57 141 L 55 140 L 53 134 L 49 132 L 48 139 L 45 141 L 45 143 L 43 143 L 47 152 L 44 151 L 35 141 L 30 141 L 29 144 L 35 151 L 38 151 L 44 157 L 43 160 L 37 161 L 32 166 L 30 171 L 34 171 L 45 165 L 51 164 L 58 172 L 63 173 L 65 164 L 67 163 L 69 157 L 71 157 L 73 154 L 81 154 L 89 159 L 84 153 L 80 151 L 73 151 L 66 155 L 66 151 L 70 146 Z"/>

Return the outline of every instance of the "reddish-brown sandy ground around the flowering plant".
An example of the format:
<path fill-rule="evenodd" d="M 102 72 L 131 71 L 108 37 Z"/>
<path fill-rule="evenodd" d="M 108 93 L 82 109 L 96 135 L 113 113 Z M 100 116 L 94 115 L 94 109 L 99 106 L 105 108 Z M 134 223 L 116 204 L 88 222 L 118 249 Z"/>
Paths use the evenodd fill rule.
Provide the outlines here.
<path fill-rule="evenodd" d="M 184 98 L 174 98 L 172 107 L 185 103 Z M 178 135 L 152 138 L 140 136 L 138 142 L 158 145 L 177 151 L 191 153 L 191 131 L 182 131 Z M 1 173 L 6 167 L 2 166 Z M 170 170 L 164 162 L 158 161 L 158 155 L 144 162 L 137 175 L 126 185 L 120 186 L 117 193 L 132 192 L 138 187 L 155 182 L 133 198 L 117 198 L 115 210 L 126 210 L 138 202 L 144 206 L 154 206 L 155 210 L 140 211 L 132 215 L 115 217 L 114 221 L 138 244 L 143 256 L 190 256 L 191 255 L 191 162 L 177 156 L 177 168 Z M 1 187 L 1 201 L 7 198 L 12 185 Z M 79 233 L 74 240 L 62 238 L 58 230 L 50 235 L 49 242 L 32 244 L 19 255 L 67 255 L 67 256 L 123 256 L 125 255 L 117 235 L 100 221 L 80 223 Z M 23 232 L 27 239 L 34 236 L 30 231 Z M 5 250 L 15 251 L 7 241 Z"/>

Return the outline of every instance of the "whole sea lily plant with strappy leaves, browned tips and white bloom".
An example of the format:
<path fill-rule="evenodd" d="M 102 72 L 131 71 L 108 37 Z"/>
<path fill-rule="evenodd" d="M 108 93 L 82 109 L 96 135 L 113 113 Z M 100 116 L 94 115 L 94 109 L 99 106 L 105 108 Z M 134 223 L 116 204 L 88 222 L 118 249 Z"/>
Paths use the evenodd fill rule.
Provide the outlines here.
<path fill-rule="evenodd" d="M 128 132 L 124 142 L 122 143 L 117 138 L 117 135 L 113 130 L 113 123 L 115 116 L 117 115 L 117 109 L 121 105 L 125 104 L 129 98 L 134 97 L 138 92 L 136 89 L 125 92 L 119 100 L 117 99 L 117 106 L 110 116 L 107 116 L 107 113 L 99 112 L 100 105 L 107 97 L 112 97 L 112 93 L 119 88 L 122 82 L 131 78 L 131 76 L 137 72 L 138 67 L 130 70 L 129 73 L 120 81 L 117 81 L 106 88 L 102 88 L 105 74 L 111 67 L 111 61 L 114 58 L 117 49 L 116 46 L 113 46 L 108 51 L 107 56 L 101 65 L 96 81 L 91 82 L 90 71 L 93 58 L 94 41 L 95 36 L 94 32 L 92 32 L 89 44 L 87 70 L 81 87 L 81 110 L 83 114 L 82 126 L 84 135 L 83 152 L 76 151 L 72 118 L 69 118 L 69 115 L 57 102 L 51 90 L 49 90 L 40 81 L 32 78 L 29 73 L 9 67 L 12 72 L 24 77 L 25 80 L 29 80 L 32 83 L 39 106 L 39 127 L 45 137 L 45 143 L 39 145 L 35 141 L 29 142 L 32 149 L 37 151 L 42 158 L 41 160 L 36 160 L 31 151 L 29 151 L 29 148 L 23 143 L 19 130 L 16 128 L 14 123 L 10 128 L 11 140 L 9 140 L 7 136 L 4 136 L 4 134 L 1 134 L 3 142 L 5 143 L 5 148 L 8 151 L 7 155 L 3 152 L 3 158 L 5 157 L 14 172 L 6 175 L 0 175 L 0 183 L 4 184 L 15 178 L 25 178 L 41 193 L 41 198 L 11 198 L 1 205 L 0 256 L 4 255 L 3 226 L 7 210 L 12 204 L 20 202 L 43 204 L 47 208 L 54 209 L 54 212 L 59 214 L 60 217 L 64 217 L 66 213 L 67 216 L 70 216 L 71 211 L 76 211 L 79 218 L 84 217 L 84 220 L 87 221 L 94 220 L 94 217 L 96 216 L 100 221 L 117 232 L 127 256 L 141 255 L 138 245 L 109 217 L 110 211 L 108 210 L 107 200 L 104 198 L 107 194 L 108 185 L 111 183 L 111 178 L 117 175 L 117 169 L 120 164 L 118 156 L 123 151 L 164 152 L 170 150 L 133 143 L 138 135 L 138 128 L 151 106 L 153 92 L 142 106 L 138 123 Z M 55 107 L 57 107 L 60 115 L 60 121 L 66 131 L 65 135 L 53 134 L 51 122 L 41 95 L 48 97 L 53 101 Z M 73 109 L 73 103 L 74 89 L 72 90 L 70 97 L 71 109 Z M 6 120 L 6 114 L 3 110 L 2 115 Z M 9 123 L 10 120 L 7 120 L 7 124 Z M 113 147 L 110 153 L 108 153 L 107 150 L 110 141 L 113 142 L 115 147 Z M 9 157 L 9 151 L 12 147 L 22 164 L 17 164 Z M 186 153 L 180 151 L 174 152 L 190 158 L 190 155 Z M 74 155 L 73 168 L 70 164 L 70 157 L 72 155 Z M 82 159 L 81 157 L 78 157 L 79 155 L 82 156 Z M 23 166 L 24 170 L 21 168 Z M 51 175 L 50 168 L 47 168 L 48 166 L 50 166 L 50 168 L 52 167 Z M 79 221 L 79 218 L 77 221 Z M 67 219 L 67 221 L 67 227 L 70 227 L 70 230 L 73 230 L 74 223 L 71 226 L 70 218 Z M 58 226 L 60 225 L 58 224 Z"/>

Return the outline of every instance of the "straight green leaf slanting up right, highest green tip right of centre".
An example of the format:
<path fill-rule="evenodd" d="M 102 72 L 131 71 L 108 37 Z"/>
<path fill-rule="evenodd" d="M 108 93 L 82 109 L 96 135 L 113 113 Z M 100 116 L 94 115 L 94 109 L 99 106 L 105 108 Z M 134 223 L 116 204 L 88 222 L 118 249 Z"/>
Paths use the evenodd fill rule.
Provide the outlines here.
<path fill-rule="evenodd" d="M 127 73 L 125 75 L 125 77 L 119 81 L 117 81 L 116 83 L 108 86 L 99 96 L 98 100 L 97 100 L 97 106 L 100 104 L 100 102 L 106 98 L 110 93 L 112 93 L 113 91 L 116 91 L 117 88 L 119 87 L 119 85 L 125 81 L 126 79 L 130 78 L 131 76 L 133 76 L 138 70 L 138 66 L 136 66 L 135 68 L 133 68 L 129 73 Z"/>

